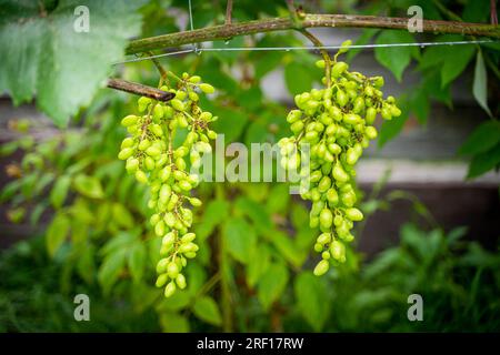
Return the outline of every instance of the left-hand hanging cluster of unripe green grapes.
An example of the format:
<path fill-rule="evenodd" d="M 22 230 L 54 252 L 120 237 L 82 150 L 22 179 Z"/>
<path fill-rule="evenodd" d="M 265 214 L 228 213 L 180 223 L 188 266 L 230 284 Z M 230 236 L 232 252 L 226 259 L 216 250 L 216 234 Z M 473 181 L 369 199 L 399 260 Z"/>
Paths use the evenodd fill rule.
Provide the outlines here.
<path fill-rule="evenodd" d="M 127 172 L 149 185 L 148 206 L 154 211 L 150 222 L 156 235 L 162 237 L 156 285 L 164 287 L 166 297 L 187 286 L 182 268 L 199 250 L 194 243 L 196 234 L 189 232 L 193 217 L 190 206 L 201 205 L 199 199 L 191 196 L 199 176 L 189 173 L 188 166 L 200 166 L 201 155 L 211 151 L 210 140 L 217 138 L 209 129 L 209 123 L 217 116 L 202 111 L 198 95 L 200 91 L 213 93 L 213 87 L 201 83 L 198 75 L 170 75 L 177 85 L 160 89 L 176 97 L 168 102 L 141 97 L 138 111 L 142 115 L 130 114 L 121 121 L 130 136 L 123 140 L 118 154 L 127 161 Z M 186 139 L 174 146 L 176 132 L 182 129 L 188 131 Z"/>

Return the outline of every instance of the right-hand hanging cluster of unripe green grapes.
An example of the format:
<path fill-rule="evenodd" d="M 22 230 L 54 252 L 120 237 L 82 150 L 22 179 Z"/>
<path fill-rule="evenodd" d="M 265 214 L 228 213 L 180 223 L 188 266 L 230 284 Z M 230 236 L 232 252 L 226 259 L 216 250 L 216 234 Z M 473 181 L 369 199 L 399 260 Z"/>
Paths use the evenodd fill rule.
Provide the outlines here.
<path fill-rule="evenodd" d="M 346 62 L 337 61 L 350 44 L 342 43 L 326 70 L 330 85 L 294 97 L 298 109 L 287 116 L 293 135 L 279 141 L 281 165 L 300 170 L 301 197 L 312 202 L 310 226 L 321 231 L 314 251 L 321 253 L 322 260 L 314 275 L 327 273 L 330 264 L 346 262 L 346 243 L 353 240 L 353 223 L 363 219 L 356 207 L 356 163 L 370 140 L 377 138 L 372 125 L 377 115 L 391 120 L 401 114 L 393 97 L 382 98 L 382 77 L 350 72 Z M 317 62 L 321 69 L 328 69 L 327 64 L 324 60 Z M 327 77 L 322 82 L 328 83 Z M 310 148 L 309 166 L 301 166 L 303 143 Z"/>

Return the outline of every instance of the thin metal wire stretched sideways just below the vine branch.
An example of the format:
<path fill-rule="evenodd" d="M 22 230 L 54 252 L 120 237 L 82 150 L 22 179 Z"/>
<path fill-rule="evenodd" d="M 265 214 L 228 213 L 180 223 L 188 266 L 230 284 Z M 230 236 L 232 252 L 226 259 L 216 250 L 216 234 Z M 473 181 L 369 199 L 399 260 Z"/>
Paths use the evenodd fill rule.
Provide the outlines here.
<path fill-rule="evenodd" d="M 476 40 L 476 41 L 447 41 L 447 42 L 420 42 L 420 43 L 383 43 L 383 44 L 352 44 L 349 45 L 349 49 L 374 49 L 374 48 L 391 48 L 391 47 L 432 47 L 432 45 L 463 45 L 463 44 L 481 44 L 481 43 L 498 43 L 500 41 L 492 41 L 492 40 Z M 308 50 L 308 51 L 314 51 L 314 50 L 330 50 L 330 49 L 340 49 L 342 45 L 322 45 L 322 47 L 314 47 L 314 45 L 303 45 L 303 47 L 228 47 L 228 48 L 198 48 L 193 47 L 192 49 L 187 50 L 180 50 L 180 51 L 173 51 L 168 53 L 161 53 L 157 55 L 150 55 L 150 57 L 140 57 L 134 58 L 130 60 L 126 60 L 122 62 L 117 62 L 114 64 L 123 64 L 123 63 L 130 63 L 130 62 L 140 62 L 143 60 L 149 60 L 153 58 L 161 58 L 161 57 L 169 57 L 169 55 L 177 55 L 177 54 L 186 54 L 196 52 L 200 54 L 201 52 L 226 52 L 226 51 L 291 51 L 291 50 Z"/>

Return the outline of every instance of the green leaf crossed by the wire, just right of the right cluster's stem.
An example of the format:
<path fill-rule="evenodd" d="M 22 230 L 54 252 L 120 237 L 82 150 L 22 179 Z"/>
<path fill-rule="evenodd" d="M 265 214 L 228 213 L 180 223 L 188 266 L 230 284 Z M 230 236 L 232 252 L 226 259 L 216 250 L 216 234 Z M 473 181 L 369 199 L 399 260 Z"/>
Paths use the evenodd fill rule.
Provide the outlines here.
<path fill-rule="evenodd" d="M 382 31 L 376 40 L 377 44 L 411 43 L 413 36 L 406 31 Z M 378 47 L 374 50 L 377 61 L 389 69 L 398 81 L 401 81 L 404 69 L 410 64 L 411 57 L 417 55 L 416 47 Z"/>

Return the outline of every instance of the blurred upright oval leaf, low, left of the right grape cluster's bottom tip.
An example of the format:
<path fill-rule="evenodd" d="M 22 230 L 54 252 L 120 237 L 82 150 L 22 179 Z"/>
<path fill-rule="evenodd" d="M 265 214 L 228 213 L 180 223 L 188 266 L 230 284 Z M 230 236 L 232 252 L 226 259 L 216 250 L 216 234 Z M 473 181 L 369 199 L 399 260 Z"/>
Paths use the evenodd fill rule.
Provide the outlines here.
<path fill-rule="evenodd" d="M 273 263 L 260 277 L 257 295 L 264 311 L 277 301 L 288 283 L 288 268 L 283 263 Z"/>

